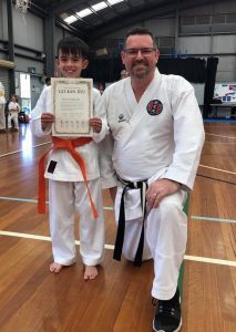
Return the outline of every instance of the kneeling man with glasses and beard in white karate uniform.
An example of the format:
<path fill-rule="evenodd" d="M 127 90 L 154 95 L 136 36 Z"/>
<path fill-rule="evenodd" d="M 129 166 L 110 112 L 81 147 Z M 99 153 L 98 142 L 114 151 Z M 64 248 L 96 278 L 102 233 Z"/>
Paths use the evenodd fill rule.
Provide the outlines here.
<path fill-rule="evenodd" d="M 121 55 L 130 77 L 110 85 L 101 103 L 114 141 L 112 160 L 119 179 L 114 258 L 123 252 L 137 266 L 153 258 L 152 297 L 158 300 L 153 330 L 179 331 L 177 279 L 187 239 L 183 206 L 204 143 L 202 115 L 193 86 L 157 71 L 160 52 L 147 29 L 130 31 Z M 111 147 L 111 142 L 104 144 Z M 116 178 L 106 154 L 103 187 L 111 188 Z"/>

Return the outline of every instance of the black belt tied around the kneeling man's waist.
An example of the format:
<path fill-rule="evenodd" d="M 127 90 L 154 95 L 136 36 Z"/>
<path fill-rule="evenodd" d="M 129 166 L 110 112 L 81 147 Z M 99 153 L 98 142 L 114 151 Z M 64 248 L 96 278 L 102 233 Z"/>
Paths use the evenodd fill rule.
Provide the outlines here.
<path fill-rule="evenodd" d="M 134 258 L 134 266 L 141 267 L 142 258 L 143 258 L 143 247 L 144 247 L 144 221 L 146 216 L 146 188 L 147 188 L 147 180 L 142 181 L 126 181 L 120 177 L 117 179 L 124 185 L 122 196 L 121 196 L 121 206 L 120 206 L 120 215 L 119 215 L 119 225 L 117 225 L 117 234 L 115 239 L 115 248 L 113 258 L 116 260 L 121 260 L 123 242 L 124 242 L 124 232 L 125 232 L 125 208 L 124 208 L 124 197 L 129 189 L 140 189 L 141 193 L 141 205 L 143 210 L 143 225 L 142 231 L 140 237 L 140 242 L 137 246 L 136 255 Z"/>

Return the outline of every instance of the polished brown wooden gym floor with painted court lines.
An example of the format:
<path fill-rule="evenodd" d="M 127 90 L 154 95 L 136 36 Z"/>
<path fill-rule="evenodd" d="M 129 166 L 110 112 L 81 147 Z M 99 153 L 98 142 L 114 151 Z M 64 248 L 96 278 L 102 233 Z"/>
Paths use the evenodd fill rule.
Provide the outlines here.
<path fill-rule="evenodd" d="M 182 332 L 236 331 L 236 123 L 205 124 L 189 201 Z M 0 134 L 0 331 L 151 332 L 152 261 L 112 259 L 112 204 L 104 193 L 105 260 L 94 281 L 78 262 L 54 276 L 48 215 L 37 215 L 37 169 L 49 139 L 29 126 Z M 75 227 L 78 229 L 78 227 Z M 78 246 L 79 248 L 79 246 Z"/>

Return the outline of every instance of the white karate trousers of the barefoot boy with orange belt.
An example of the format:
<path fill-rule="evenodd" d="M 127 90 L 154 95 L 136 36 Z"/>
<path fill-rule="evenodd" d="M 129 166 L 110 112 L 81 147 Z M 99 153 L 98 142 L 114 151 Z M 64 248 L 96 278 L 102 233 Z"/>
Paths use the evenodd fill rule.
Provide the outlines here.
<path fill-rule="evenodd" d="M 80 253 L 83 263 L 96 266 L 103 260 L 104 218 L 100 179 L 89 181 L 99 217 L 93 218 L 83 181 L 49 180 L 49 211 L 54 261 L 70 266 L 75 261 L 74 212 L 80 215 Z"/>

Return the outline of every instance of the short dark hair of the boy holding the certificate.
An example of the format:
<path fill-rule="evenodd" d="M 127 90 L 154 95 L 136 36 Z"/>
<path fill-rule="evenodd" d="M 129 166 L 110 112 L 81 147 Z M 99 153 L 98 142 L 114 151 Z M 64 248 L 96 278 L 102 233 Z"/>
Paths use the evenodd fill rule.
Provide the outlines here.
<path fill-rule="evenodd" d="M 89 58 L 88 44 L 76 37 L 65 37 L 61 39 L 58 43 L 58 55 L 59 52 L 62 54 L 71 53 L 73 55 L 80 55 L 84 60 Z"/>

